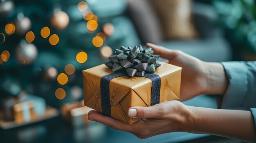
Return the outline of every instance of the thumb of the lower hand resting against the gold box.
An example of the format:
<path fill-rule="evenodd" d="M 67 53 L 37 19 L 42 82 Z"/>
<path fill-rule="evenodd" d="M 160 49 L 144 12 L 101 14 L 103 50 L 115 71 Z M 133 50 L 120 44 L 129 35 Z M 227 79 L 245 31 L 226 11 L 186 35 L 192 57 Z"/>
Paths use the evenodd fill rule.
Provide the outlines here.
<path fill-rule="evenodd" d="M 150 106 L 150 107 L 131 107 L 128 110 L 128 116 L 130 118 L 155 118 L 158 119 L 162 116 L 162 108 L 158 108 L 158 106 Z"/>

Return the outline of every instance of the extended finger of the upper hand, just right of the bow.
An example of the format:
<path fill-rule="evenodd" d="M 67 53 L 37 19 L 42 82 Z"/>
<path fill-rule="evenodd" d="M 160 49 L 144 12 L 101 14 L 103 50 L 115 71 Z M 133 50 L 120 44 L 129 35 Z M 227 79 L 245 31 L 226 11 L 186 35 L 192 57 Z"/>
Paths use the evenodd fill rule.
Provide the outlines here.
<path fill-rule="evenodd" d="M 158 46 L 152 43 L 147 43 L 147 47 L 151 47 L 155 55 L 161 55 L 161 57 L 164 59 L 171 60 L 177 55 L 177 52 L 175 50 L 170 50 L 168 48 L 164 48 L 162 46 Z"/>

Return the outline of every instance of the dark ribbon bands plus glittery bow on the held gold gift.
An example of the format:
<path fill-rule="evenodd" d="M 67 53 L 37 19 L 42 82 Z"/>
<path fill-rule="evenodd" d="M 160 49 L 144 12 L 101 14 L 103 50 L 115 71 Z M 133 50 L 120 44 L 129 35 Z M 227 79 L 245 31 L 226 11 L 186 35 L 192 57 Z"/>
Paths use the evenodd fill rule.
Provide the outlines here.
<path fill-rule="evenodd" d="M 110 56 L 106 66 L 113 72 L 101 77 L 101 110 L 103 114 L 111 117 L 109 83 L 111 79 L 128 75 L 129 77 L 146 77 L 152 81 L 150 106 L 160 101 L 161 79 L 154 74 L 161 64 L 157 62 L 160 55 L 154 55 L 152 48 L 143 49 L 141 45 L 131 48 L 121 46 L 116 49 L 115 55 Z"/>

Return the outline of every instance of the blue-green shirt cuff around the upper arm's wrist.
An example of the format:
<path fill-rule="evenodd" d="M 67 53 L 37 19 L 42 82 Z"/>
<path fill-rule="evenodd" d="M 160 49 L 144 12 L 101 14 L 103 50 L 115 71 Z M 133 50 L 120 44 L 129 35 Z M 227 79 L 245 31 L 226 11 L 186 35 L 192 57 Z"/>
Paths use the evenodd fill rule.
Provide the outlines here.
<path fill-rule="evenodd" d="M 240 108 L 247 92 L 247 66 L 243 62 L 221 62 L 221 64 L 229 79 L 229 86 L 220 108 Z"/>

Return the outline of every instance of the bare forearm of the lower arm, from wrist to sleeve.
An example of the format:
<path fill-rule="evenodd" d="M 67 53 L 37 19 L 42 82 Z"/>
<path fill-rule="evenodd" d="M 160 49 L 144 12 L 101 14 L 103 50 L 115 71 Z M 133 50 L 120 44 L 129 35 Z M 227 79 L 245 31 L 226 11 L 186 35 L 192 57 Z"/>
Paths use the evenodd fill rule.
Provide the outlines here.
<path fill-rule="evenodd" d="M 222 110 L 187 106 L 189 128 L 185 132 L 215 134 L 247 142 L 256 142 L 254 120 L 250 111 Z M 191 125 L 192 124 L 192 125 Z"/>

